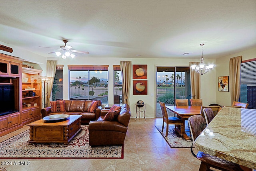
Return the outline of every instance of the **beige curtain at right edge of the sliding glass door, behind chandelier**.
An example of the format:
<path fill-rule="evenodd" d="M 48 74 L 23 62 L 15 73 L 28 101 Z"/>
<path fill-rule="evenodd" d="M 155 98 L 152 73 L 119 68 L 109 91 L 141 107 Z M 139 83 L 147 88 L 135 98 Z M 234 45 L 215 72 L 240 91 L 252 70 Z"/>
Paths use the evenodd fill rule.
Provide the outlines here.
<path fill-rule="evenodd" d="M 189 66 L 191 65 L 198 65 L 199 62 L 189 62 Z M 190 67 L 190 83 L 191 83 L 191 98 L 192 99 L 200 99 L 200 90 L 201 90 L 201 83 L 200 83 L 201 75 L 196 73 L 196 71 L 192 71 Z"/>

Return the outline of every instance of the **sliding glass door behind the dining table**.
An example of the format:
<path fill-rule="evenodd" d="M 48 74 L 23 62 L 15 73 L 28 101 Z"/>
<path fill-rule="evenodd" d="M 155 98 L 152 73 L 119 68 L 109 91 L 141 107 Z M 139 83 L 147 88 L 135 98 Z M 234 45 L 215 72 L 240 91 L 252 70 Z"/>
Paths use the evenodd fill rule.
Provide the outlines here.
<path fill-rule="evenodd" d="M 176 98 L 191 98 L 189 67 L 157 67 L 156 117 L 162 117 L 159 101 L 166 106 L 174 106 Z M 172 113 L 167 112 L 172 116 Z"/>

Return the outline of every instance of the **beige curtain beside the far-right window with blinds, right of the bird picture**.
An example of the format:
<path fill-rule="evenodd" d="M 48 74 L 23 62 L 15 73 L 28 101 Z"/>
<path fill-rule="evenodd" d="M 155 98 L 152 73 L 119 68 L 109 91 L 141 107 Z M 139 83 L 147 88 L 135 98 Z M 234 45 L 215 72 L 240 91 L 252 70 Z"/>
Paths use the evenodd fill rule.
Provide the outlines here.
<path fill-rule="evenodd" d="M 229 60 L 229 85 L 231 94 L 231 104 L 238 102 L 240 97 L 240 71 L 241 71 L 242 56 L 233 57 Z"/>

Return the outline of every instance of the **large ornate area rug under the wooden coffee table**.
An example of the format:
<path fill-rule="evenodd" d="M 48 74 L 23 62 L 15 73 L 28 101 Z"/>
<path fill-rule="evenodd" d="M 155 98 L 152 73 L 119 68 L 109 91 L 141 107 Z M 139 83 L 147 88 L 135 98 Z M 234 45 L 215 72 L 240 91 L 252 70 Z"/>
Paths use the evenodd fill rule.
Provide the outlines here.
<path fill-rule="evenodd" d="M 0 143 L 0 159 L 123 159 L 124 147 L 89 145 L 88 125 L 82 125 L 68 145 L 28 143 L 29 130 Z"/>

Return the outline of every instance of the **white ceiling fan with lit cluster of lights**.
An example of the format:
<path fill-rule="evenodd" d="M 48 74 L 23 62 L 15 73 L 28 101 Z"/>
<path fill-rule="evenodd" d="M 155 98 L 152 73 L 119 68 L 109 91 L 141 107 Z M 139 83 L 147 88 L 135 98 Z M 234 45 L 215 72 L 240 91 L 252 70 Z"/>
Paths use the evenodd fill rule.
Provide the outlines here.
<path fill-rule="evenodd" d="M 65 45 L 60 46 L 60 48 L 53 48 L 53 47 L 45 47 L 45 48 L 57 49 L 58 51 L 49 52 L 49 53 L 55 53 L 58 57 L 60 55 L 62 55 L 61 57 L 63 59 L 66 59 L 69 56 L 74 58 L 76 56 L 76 54 L 74 54 L 74 53 L 86 53 L 86 54 L 89 54 L 88 51 L 78 51 L 78 50 L 72 49 L 72 46 L 66 45 L 66 43 L 68 43 L 67 40 L 63 40 L 63 42 L 65 43 Z M 43 46 L 39 46 L 39 47 L 43 47 Z"/>

